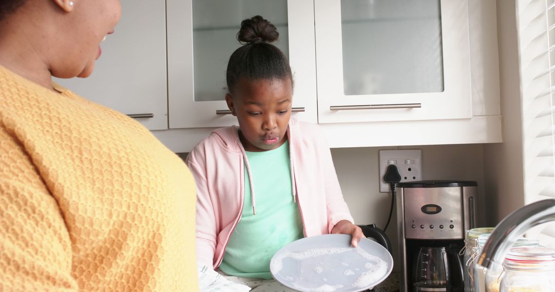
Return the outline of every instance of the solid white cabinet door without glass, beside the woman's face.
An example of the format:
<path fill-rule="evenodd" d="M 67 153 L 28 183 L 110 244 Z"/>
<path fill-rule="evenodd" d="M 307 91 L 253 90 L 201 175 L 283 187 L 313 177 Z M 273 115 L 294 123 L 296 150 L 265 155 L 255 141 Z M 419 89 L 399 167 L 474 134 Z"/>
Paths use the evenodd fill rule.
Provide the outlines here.
<path fill-rule="evenodd" d="M 115 33 L 87 79 L 56 82 L 80 96 L 137 118 L 151 130 L 168 128 L 166 7 L 163 1 L 122 0 Z"/>

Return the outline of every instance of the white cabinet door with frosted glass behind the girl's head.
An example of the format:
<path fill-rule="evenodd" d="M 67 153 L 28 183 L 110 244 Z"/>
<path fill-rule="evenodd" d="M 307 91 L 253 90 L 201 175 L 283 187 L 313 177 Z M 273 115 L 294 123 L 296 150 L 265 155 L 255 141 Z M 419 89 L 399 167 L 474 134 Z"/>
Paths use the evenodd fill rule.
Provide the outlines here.
<path fill-rule="evenodd" d="M 289 56 L 293 116 L 316 122 L 316 56 L 312 0 L 166 0 L 170 128 L 236 124 L 224 101 L 225 71 L 241 20 L 261 15 L 276 25 L 276 46 Z"/>

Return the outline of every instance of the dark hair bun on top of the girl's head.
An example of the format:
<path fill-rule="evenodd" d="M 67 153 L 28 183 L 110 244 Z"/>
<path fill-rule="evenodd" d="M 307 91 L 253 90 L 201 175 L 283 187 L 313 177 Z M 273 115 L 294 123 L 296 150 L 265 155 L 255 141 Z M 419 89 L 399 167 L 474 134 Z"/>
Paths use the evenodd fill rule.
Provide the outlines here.
<path fill-rule="evenodd" d="M 273 43 L 279 39 L 279 33 L 274 24 L 256 15 L 241 22 L 237 39 L 242 44 Z"/>

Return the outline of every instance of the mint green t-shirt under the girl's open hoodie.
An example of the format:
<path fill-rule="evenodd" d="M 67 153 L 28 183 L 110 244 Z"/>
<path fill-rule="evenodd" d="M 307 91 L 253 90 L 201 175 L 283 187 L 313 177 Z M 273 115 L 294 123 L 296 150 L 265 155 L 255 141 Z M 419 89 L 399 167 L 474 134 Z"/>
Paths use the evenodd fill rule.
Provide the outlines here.
<path fill-rule="evenodd" d="M 303 237 L 299 207 L 293 201 L 291 189 L 289 142 L 277 149 L 246 155 L 253 176 L 256 215 L 245 166 L 243 213 L 231 234 L 220 269 L 237 277 L 271 279 L 273 255 Z"/>

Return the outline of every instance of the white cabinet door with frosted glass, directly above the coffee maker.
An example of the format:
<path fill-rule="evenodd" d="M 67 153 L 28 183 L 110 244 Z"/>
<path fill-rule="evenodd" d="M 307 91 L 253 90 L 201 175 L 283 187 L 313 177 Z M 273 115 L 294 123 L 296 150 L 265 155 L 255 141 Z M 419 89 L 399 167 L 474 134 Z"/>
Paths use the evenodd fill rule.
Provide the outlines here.
<path fill-rule="evenodd" d="M 320 123 L 472 117 L 467 0 L 315 1 Z"/>

